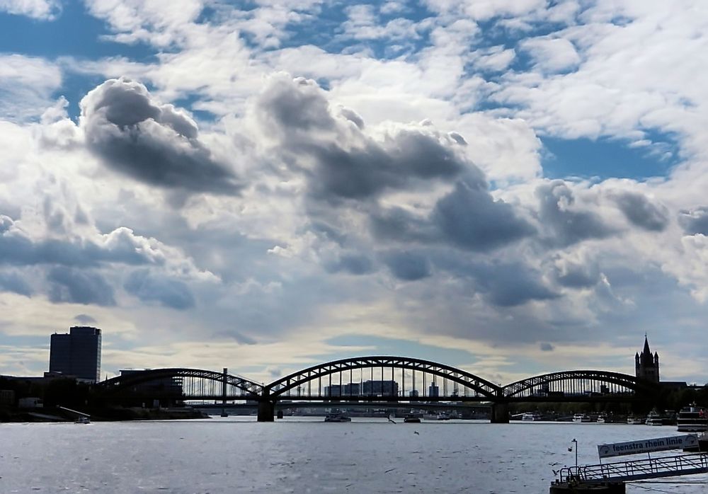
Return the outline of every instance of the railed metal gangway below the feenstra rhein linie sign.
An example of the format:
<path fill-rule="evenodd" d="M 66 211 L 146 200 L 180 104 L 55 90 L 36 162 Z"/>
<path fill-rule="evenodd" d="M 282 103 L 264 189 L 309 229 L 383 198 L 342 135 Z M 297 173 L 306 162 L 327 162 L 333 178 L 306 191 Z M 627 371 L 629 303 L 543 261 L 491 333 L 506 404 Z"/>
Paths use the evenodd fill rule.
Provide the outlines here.
<path fill-rule="evenodd" d="M 579 479 L 585 483 L 627 482 L 708 473 L 708 454 L 680 454 L 617 463 L 573 466 L 562 469 L 561 482 Z"/>

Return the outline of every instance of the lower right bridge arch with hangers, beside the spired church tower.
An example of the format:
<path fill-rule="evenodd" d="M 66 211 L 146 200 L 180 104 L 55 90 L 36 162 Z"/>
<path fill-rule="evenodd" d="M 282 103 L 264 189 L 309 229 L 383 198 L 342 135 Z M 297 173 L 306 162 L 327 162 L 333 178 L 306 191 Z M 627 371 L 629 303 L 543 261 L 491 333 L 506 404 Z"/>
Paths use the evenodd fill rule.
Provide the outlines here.
<path fill-rule="evenodd" d="M 656 391 L 658 385 L 644 379 L 622 374 L 619 372 L 607 372 L 599 370 L 570 370 L 562 372 L 551 372 L 534 377 L 527 377 L 520 381 L 507 384 L 502 388 L 505 398 L 523 398 L 530 396 L 549 396 L 549 394 L 559 392 L 569 392 L 573 394 L 590 394 L 600 392 L 605 386 L 608 390 L 631 391 L 636 393 Z M 585 388 L 585 389 L 583 389 Z M 557 389 L 557 391 L 554 391 Z"/>

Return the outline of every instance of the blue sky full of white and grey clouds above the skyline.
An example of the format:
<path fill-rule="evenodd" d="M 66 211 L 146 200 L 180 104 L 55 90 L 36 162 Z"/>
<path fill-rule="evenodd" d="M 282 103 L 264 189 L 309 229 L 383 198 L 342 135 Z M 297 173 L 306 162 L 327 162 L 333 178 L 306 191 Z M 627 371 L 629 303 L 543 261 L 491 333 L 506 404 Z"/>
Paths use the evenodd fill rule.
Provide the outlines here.
<path fill-rule="evenodd" d="M 0 0 L 0 374 L 708 381 L 704 1 Z"/>

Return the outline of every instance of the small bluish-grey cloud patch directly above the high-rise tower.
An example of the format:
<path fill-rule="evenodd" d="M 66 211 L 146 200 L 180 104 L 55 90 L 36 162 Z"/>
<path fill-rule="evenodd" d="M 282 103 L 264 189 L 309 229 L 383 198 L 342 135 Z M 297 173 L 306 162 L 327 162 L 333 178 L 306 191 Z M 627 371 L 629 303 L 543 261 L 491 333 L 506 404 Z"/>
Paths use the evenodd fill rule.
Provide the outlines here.
<path fill-rule="evenodd" d="M 47 275 L 52 302 L 72 304 L 115 305 L 113 288 L 97 272 L 59 266 Z"/>

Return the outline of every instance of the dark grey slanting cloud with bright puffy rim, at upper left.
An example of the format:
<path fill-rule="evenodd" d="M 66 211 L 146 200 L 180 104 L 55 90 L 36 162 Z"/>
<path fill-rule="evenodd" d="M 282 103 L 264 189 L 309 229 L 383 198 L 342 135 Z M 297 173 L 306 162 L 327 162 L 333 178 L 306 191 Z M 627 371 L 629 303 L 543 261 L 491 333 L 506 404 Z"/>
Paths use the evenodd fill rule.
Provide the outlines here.
<path fill-rule="evenodd" d="M 190 192 L 238 193 L 232 171 L 198 138 L 195 122 L 147 88 L 109 79 L 81 100 L 86 145 L 103 163 L 149 185 Z"/>

